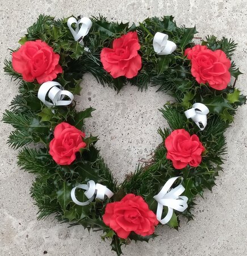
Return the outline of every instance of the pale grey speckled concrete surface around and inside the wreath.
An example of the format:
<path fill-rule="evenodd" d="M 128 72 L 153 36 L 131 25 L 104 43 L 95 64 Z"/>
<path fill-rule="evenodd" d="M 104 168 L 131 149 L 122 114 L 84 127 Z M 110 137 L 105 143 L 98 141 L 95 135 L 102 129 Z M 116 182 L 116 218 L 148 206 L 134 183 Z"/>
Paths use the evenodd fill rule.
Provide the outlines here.
<path fill-rule="evenodd" d="M 247 73 L 246 0 L 0 0 L 0 102 L 2 115 L 17 92 L 15 82 L 3 73 L 7 48 L 18 47 L 18 40 L 40 13 L 56 18 L 101 13 L 113 20 L 142 21 L 147 16 L 174 15 L 178 24 L 194 26 L 198 36 L 227 36 L 238 43 L 235 61 Z M 133 171 L 140 158 L 146 158 L 160 143 L 156 130 L 166 126 L 158 108 L 170 98 L 155 88 L 138 92 L 127 86 L 120 94 L 102 88 L 86 75 L 79 108 L 94 106 L 97 111 L 87 123 L 86 132 L 99 134 L 98 147 L 119 180 Z M 237 87 L 245 94 L 246 75 Z M 91 100 L 91 101 L 90 101 Z M 164 226 L 153 242 L 132 242 L 123 247 L 125 255 L 247 255 L 246 248 L 246 106 L 227 131 L 228 155 L 217 187 L 198 198 L 195 220 L 181 221 L 179 232 Z M 17 152 L 6 146 L 11 127 L 0 123 L 0 255 L 114 255 L 100 234 L 68 228 L 53 217 L 37 221 L 37 208 L 29 195 L 34 176 L 19 170 Z"/>

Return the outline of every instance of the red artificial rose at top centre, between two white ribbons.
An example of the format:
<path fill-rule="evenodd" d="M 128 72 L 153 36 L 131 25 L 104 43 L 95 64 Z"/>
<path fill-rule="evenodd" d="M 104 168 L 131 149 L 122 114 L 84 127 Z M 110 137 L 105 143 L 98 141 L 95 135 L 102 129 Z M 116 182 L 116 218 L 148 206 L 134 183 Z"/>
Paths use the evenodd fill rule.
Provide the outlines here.
<path fill-rule="evenodd" d="M 139 49 L 137 32 L 128 32 L 114 40 L 112 49 L 102 49 L 103 68 L 114 78 L 125 76 L 131 79 L 141 69 L 141 56 L 137 52 Z"/>

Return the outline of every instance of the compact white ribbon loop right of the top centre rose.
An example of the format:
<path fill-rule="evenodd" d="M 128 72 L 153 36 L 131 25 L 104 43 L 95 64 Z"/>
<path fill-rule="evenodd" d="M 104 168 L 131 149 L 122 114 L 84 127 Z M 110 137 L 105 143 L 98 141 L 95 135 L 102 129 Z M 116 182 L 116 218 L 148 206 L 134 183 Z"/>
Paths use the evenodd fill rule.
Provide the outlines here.
<path fill-rule="evenodd" d="M 174 52 L 177 46 L 168 40 L 168 35 L 157 32 L 153 38 L 153 49 L 158 55 L 168 55 Z"/>

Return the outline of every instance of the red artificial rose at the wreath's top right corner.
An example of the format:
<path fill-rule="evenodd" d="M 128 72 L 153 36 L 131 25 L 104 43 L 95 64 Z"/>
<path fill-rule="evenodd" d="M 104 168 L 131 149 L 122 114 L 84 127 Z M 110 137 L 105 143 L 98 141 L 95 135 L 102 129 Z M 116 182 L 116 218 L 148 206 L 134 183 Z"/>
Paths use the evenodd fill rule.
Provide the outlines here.
<path fill-rule="evenodd" d="M 223 51 L 212 51 L 206 46 L 196 45 L 185 50 L 185 55 L 191 60 L 191 74 L 195 80 L 216 90 L 227 88 L 231 80 L 231 61 Z"/>

